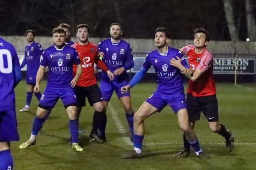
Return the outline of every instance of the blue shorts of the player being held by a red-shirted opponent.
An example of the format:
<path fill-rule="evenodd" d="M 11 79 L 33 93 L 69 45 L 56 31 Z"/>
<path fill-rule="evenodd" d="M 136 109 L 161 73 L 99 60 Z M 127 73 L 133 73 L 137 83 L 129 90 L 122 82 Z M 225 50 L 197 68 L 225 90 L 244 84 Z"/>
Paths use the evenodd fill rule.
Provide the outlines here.
<path fill-rule="evenodd" d="M 157 90 L 146 100 L 149 104 L 156 107 L 158 112 L 160 112 L 167 104 L 172 107 L 172 110 L 176 114 L 180 109 L 186 109 L 186 99 L 185 94 L 162 94 Z"/>

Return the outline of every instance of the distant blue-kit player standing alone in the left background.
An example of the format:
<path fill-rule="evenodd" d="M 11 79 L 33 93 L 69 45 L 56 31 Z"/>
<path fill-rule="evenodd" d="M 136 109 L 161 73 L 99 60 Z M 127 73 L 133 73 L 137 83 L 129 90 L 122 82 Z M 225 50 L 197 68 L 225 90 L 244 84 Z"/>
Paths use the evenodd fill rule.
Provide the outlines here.
<path fill-rule="evenodd" d="M 36 72 L 40 65 L 40 57 L 44 52 L 41 44 L 36 43 L 34 41 L 35 33 L 32 29 L 28 29 L 25 33 L 26 39 L 28 41 L 28 45 L 25 47 L 25 58 L 20 65 L 20 68 L 23 68 L 27 64 L 27 72 L 26 72 L 26 105 L 20 109 L 20 111 L 29 111 L 30 102 L 33 95 L 33 88 L 36 84 Z M 42 94 L 35 93 L 36 98 L 40 100 Z"/>

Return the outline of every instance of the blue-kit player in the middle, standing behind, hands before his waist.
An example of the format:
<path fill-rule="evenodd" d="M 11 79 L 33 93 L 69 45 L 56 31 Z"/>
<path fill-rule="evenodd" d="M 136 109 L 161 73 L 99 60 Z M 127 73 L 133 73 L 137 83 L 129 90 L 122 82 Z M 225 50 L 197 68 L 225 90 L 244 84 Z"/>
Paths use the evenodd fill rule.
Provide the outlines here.
<path fill-rule="evenodd" d="M 120 39 L 122 35 L 122 29 L 120 23 L 112 23 L 110 25 L 110 39 L 101 41 L 98 45 L 99 54 L 103 57 L 102 61 L 106 64 L 108 69 L 113 72 L 114 80 L 110 81 L 108 74 L 102 72 L 100 80 L 100 90 L 102 92 L 103 103 L 105 110 L 108 107 L 108 102 L 113 94 L 113 91 L 116 91 L 116 94 L 124 107 L 126 113 L 126 119 L 128 121 L 131 133 L 133 133 L 133 115 L 134 111 L 131 106 L 130 92 L 125 94 L 121 93 L 121 87 L 128 84 L 128 76 L 126 70 L 131 69 L 134 66 L 132 49 L 130 44 L 126 41 Z M 103 140 L 106 140 L 105 137 L 105 128 L 107 123 L 106 114 L 104 114 L 104 123 L 99 128 L 99 135 Z"/>

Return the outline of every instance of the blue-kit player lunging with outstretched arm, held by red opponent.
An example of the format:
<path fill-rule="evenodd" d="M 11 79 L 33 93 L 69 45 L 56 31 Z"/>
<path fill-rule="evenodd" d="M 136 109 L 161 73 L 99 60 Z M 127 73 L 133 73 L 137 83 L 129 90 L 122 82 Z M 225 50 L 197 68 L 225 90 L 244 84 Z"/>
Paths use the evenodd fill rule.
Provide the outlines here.
<path fill-rule="evenodd" d="M 150 66 L 154 66 L 157 75 L 157 90 L 134 114 L 134 150 L 122 156 L 122 159 L 142 157 L 144 120 L 157 111 L 160 112 L 167 104 L 171 106 L 174 113 L 176 113 L 180 128 L 185 133 L 190 145 L 196 151 L 196 155 L 199 158 L 209 159 L 210 156 L 204 154 L 200 149 L 196 134 L 189 126 L 182 74 L 178 68 L 170 65 L 170 60 L 178 56 L 185 68 L 189 68 L 189 66 L 186 63 L 183 54 L 178 49 L 168 47 L 170 35 L 166 28 L 156 29 L 154 40 L 157 49 L 147 55 L 141 70 L 135 74 L 128 85 L 122 87 L 122 92 L 128 92 L 132 86 L 142 79 Z"/>

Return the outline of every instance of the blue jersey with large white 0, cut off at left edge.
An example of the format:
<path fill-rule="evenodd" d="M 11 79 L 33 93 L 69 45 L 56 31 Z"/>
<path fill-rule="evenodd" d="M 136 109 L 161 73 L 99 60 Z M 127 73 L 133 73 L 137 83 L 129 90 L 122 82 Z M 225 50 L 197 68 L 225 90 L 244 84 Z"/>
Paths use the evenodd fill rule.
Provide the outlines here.
<path fill-rule="evenodd" d="M 14 68 L 19 66 L 14 46 L 0 38 L 0 111 L 15 108 Z"/>

